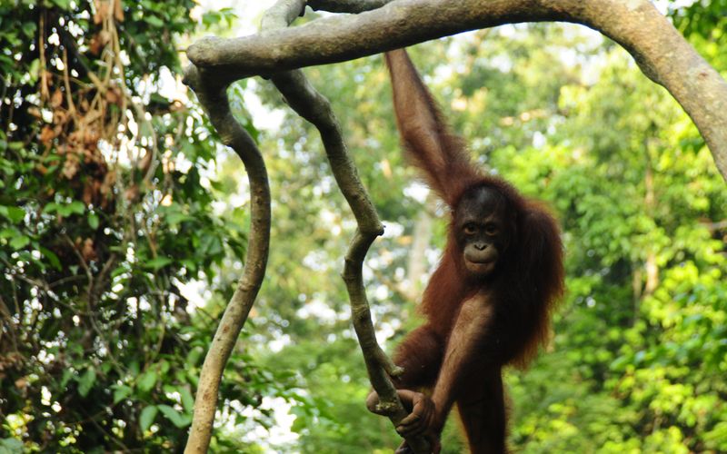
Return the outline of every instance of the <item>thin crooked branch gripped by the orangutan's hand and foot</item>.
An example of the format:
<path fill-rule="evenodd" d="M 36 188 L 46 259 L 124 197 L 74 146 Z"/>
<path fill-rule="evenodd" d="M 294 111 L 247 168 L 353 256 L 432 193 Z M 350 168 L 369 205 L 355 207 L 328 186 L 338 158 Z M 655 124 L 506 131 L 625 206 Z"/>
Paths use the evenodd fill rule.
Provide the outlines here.
<path fill-rule="evenodd" d="M 289 25 L 304 6 L 304 0 L 278 1 L 265 13 L 262 29 L 272 30 Z M 354 330 L 364 353 L 369 379 L 379 394 L 382 407 L 389 410 L 389 418 L 395 427 L 408 413 L 399 400 L 389 374 L 396 375 L 402 370 L 393 364 L 376 341 L 362 275 L 366 253 L 376 237 L 383 234 L 383 225 L 359 179 L 355 164 L 348 154 L 341 126 L 328 100 L 315 90 L 301 70 L 274 74 L 271 80 L 291 108 L 318 129 L 335 181 L 354 212 L 358 228 L 346 253 L 343 278 L 351 301 Z M 414 452 L 431 452 L 423 437 L 407 439 L 407 443 Z"/>

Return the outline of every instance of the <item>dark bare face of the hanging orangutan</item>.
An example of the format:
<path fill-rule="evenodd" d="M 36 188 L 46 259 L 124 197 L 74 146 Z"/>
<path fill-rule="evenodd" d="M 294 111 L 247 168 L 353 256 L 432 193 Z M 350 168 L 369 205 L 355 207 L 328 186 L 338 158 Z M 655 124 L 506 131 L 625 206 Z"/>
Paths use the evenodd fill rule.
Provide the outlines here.
<path fill-rule="evenodd" d="M 464 265 L 478 277 L 491 274 L 510 242 L 502 194 L 487 187 L 465 192 L 454 212 L 457 243 Z"/>

